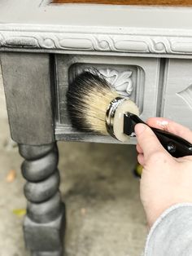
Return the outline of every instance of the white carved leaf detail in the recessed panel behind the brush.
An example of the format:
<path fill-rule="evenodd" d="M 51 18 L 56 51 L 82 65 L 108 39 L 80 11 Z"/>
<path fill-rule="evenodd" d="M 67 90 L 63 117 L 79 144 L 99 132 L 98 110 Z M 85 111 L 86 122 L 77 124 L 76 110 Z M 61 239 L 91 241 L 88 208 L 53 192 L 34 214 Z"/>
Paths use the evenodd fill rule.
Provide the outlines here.
<path fill-rule="evenodd" d="M 100 69 L 100 73 L 106 78 L 107 82 L 111 84 L 113 88 L 120 95 L 129 96 L 133 92 L 133 82 L 130 78 L 132 71 L 118 72 L 116 69 Z"/>

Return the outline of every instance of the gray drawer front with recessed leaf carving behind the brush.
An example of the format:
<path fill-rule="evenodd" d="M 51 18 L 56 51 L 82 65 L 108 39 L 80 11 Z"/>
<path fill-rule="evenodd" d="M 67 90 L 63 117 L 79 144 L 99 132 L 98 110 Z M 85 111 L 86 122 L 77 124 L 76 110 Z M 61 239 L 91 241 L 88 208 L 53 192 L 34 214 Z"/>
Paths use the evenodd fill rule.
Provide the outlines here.
<path fill-rule="evenodd" d="M 111 136 L 80 132 L 71 126 L 66 108 L 68 84 L 82 70 L 97 68 L 120 95 L 128 96 L 138 106 L 140 116 L 155 117 L 159 107 L 159 66 L 157 58 L 107 55 L 56 55 L 57 121 L 56 139 L 118 143 Z M 130 143 L 135 143 L 135 138 Z"/>

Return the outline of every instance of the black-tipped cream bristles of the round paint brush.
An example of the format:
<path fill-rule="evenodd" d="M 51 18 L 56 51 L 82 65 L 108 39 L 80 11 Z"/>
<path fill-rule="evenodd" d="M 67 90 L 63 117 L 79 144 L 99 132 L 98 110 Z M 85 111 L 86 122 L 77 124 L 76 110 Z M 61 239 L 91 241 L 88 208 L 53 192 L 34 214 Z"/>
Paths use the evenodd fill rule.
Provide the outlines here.
<path fill-rule="evenodd" d="M 68 87 L 68 113 L 72 126 L 78 130 L 107 135 L 107 108 L 116 97 L 120 95 L 111 88 L 100 73 L 97 71 L 81 73 Z M 137 113 L 137 106 L 135 108 Z"/>

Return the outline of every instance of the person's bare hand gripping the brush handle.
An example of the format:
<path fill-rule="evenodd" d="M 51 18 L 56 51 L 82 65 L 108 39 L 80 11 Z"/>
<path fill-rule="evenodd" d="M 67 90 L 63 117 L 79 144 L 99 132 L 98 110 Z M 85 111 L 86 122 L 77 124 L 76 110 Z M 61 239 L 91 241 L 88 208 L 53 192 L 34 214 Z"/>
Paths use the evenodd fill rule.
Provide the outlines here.
<path fill-rule="evenodd" d="M 167 130 L 192 143 L 192 131 L 162 117 L 150 118 L 149 126 Z M 155 220 L 177 203 L 192 203 L 192 156 L 172 157 L 144 124 L 135 126 L 137 160 L 143 166 L 140 197 L 151 227 Z"/>

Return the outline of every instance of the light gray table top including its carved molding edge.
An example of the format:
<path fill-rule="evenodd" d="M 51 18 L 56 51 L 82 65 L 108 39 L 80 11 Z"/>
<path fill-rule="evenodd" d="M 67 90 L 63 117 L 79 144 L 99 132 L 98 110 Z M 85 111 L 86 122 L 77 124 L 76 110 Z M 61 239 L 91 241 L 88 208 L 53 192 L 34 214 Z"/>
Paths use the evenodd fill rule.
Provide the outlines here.
<path fill-rule="evenodd" d="M 192 7 L 1 0 L 0 51 L 186 55 L 192 54 L 191 21 Z"/>

